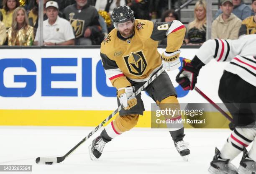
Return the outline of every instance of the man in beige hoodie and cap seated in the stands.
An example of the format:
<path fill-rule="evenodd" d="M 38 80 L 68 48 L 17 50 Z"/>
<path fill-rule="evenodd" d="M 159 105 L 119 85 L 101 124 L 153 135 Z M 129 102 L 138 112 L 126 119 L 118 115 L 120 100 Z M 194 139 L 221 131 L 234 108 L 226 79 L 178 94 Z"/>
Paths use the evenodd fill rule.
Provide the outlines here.
<path fill-rule="evenodd" d="M 232 13 L 232 0 L 220 0 L 220 9 L 223 11 L 212 22 L 212 39 L 237 39 L 242 21 Z"/>

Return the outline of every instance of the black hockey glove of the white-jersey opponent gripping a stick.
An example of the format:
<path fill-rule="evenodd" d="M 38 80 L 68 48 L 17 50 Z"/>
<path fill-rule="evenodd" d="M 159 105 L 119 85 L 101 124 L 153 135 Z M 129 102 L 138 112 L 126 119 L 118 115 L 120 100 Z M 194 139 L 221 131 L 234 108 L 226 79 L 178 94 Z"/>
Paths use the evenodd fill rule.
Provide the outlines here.
<path fill-rule="evenodd" d="M 183 88 L 183 90 L 193 90 L 195 88 L 195 84 L 197 83 L 197 76 L 202 66 L 205 64 L 197 58 L 188 60 L 182 60 L 182 70 L 176 77 L 176 82 Z"/>

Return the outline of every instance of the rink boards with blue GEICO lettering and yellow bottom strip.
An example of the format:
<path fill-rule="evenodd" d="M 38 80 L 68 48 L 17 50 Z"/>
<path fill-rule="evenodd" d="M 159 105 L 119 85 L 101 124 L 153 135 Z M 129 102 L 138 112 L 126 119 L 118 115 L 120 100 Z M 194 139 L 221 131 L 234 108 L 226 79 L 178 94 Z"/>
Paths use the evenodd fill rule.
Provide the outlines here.
<path fill-rule="evenodd" d="M 180 56 L 192 59 L 196 51 L 182 49 Z M 216 103 L 221 103 L 218 85 L 224 66 L 211 61 L 197 80 L 197 87 Z M 178 72 L 168 74 L 179 102 L 207 103 L 197 92 L 178 86 Z M 115 92 L 102 68 L 100 49 L 1 49 L 0 125 L 95 126 L 116 109 Z M 142 99 L 146 112 L 137 127 L 150 127 L 154 101 L 145 92 Z"/>

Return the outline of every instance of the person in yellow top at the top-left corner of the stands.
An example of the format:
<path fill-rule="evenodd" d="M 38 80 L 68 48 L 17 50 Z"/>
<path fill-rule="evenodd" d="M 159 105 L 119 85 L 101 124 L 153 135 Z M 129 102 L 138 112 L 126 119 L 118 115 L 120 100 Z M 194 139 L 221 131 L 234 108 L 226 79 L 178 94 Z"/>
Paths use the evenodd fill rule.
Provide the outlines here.
<path fill-rule="evenodd" d="M 13 22 L 13 11 L 15 8 L 20 6 L 19 0 L 4 0 L 3 1 L 3 8 L 0 9 L 0 13 L 3 16 L 3 23 L 5 27 L 8 29 L 12 26 Z"/>

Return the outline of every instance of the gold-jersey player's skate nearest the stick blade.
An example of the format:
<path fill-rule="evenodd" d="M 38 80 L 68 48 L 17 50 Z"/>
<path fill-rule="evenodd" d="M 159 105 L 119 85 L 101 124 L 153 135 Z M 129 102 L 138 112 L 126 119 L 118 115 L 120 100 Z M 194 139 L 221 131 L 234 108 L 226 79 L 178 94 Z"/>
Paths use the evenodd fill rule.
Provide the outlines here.
<path fill-rule="evenodd" d="M 100 158 L 106 143 L 107 142 L 105 142 L 101 136 L 98 136 L 92 141 L 92 143 L 89 145 L 89 154 L 91 160 Z"/>

